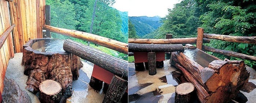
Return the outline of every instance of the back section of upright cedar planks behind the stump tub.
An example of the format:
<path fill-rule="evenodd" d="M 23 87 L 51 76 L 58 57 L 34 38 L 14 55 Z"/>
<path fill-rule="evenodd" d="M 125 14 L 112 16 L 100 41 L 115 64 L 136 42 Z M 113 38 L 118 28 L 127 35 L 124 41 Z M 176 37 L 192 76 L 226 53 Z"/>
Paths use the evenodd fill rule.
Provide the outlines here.
<path fill-rule="evenodd" d="M 34 38 L 42 38 L 42 25 L 45 24 L 45 0 L 13 0 L 10 2 L 14 28 L 16 53 Z"/>

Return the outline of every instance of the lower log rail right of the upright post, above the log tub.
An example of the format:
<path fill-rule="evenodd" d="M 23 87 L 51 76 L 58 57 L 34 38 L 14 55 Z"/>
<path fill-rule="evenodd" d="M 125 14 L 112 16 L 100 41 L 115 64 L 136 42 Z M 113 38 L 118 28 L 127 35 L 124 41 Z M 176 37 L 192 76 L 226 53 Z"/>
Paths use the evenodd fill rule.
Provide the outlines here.
<path fill-rule="evenodd" d="M 219 53 L 219 54 L 223 54 L 223 55 L 227 55 L 227 56 L 232 56 L 232 57 L 237 57 L 237 58 L 256 61 L 255 56 L 246 55 L 246 54 L 242 54 L 242 53 L 237 53 L 237 52 L 234 52 L 234 51 L 220 50 L 220 49 L 215 49 L 215 48 L 212 48 L 212 47 L 209 47 L 209 46 L 204 46 L 204 45 L 203 45 L 203 50 L 204 51 L 211 51 L 213 53 Z"/>

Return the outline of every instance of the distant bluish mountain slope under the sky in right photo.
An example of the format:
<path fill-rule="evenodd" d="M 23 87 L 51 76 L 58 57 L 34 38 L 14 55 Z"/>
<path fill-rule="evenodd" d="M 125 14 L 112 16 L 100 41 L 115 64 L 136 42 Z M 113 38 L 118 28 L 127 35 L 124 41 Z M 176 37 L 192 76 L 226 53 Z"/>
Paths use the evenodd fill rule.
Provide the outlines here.
<path fill-rule="evenodd" d="M 159 16 L 154 17 L 147 17 L 147 16 L 140 16 L 140 17 L 129 17 L 129 20 L 135 26 L 136 34 L 139 37 L 143 37 L 144 35 L 154 32 L 162 24 L 160 21 Z"/>

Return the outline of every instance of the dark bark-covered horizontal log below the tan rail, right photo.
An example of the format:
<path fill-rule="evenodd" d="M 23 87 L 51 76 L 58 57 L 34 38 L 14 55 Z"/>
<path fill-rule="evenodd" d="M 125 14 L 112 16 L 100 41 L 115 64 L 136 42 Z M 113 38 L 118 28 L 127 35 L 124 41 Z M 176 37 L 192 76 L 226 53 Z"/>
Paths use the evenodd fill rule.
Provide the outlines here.
<path fill-rule="evenodd" d="M 182 44 L 133 44 L 129 43 L 130 52 L 173 52 L 184 51 Z"/>

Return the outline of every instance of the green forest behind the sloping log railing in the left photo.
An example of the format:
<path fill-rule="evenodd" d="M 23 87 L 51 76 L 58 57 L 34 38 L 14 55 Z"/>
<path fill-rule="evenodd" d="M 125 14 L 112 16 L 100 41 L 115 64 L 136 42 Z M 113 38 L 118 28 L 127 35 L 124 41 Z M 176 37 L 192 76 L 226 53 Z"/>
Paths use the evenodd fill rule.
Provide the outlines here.
<path fill-rule="evenodd" d="M 51 25 L 90 32 L 95 0 L 46 0 L 50 5 Z M 128 13 L 110 7 L 115 0 L 98 0 L 92 34 L 128 43 Z M 52 33 L 53 38 L 71 39 L 87 45 L 87 41 Z M 128 60 L 128 55 L 91 43 L 93 48 Z"/>

